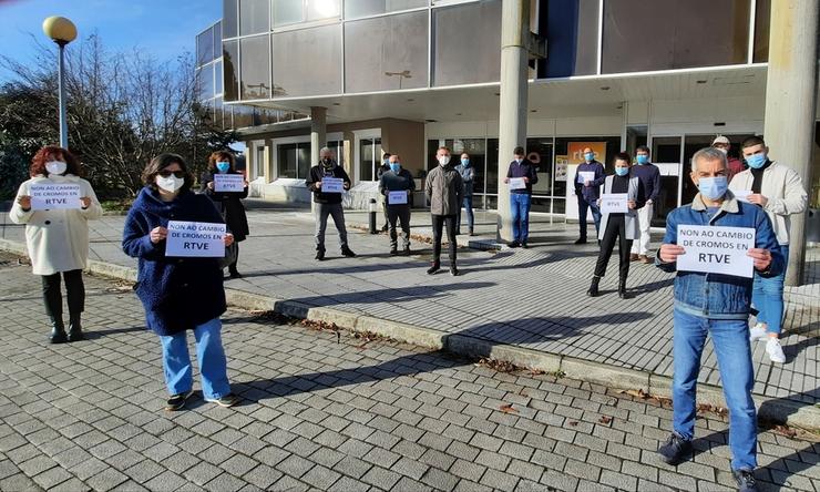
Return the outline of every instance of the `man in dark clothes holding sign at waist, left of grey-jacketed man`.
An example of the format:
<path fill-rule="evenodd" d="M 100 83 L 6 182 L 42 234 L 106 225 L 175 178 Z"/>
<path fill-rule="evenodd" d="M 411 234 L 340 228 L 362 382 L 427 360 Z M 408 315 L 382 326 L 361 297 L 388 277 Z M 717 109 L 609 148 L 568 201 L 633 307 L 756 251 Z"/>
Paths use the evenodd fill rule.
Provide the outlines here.
<path fill-rule="evenodd" d="M 390 171 L 379 178 L 379 193 L 385 196 L 390 224 L 390 254 L 399 253 L 396 221 L 401 223 L 402 255 L 410 254 L 410 194 L 416 191 L 413 175 L 401 167 L 399 154 L 390 156 Z"/>

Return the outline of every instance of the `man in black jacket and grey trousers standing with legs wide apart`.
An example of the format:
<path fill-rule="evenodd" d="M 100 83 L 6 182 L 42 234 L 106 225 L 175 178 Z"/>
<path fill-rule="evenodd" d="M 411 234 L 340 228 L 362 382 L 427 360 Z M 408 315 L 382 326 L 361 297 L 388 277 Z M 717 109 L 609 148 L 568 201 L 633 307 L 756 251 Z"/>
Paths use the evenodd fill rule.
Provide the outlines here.
<path fill-rule="evenodd" d="M 325 189 L 322 182 L 325 180 L 341 180 L 342 188 L 350 189 L 350 177 L 345 170 L 336 163 L 334 151 L 324 147 L 319 156 L 319 164 L 310 168 L 310 175 L 305 180 L 305 185 L 314 193 L 316 203 L 316 259 L 325 259 L 325 229 L 327 229 L 328 215 L 334 217 L 336 230 L 339 232 L 339 246 L 341 255 L 348 258 L 356 257 L 347 245 L 347 227 L 345 226 L 345 209 L 341 207 L 341 189 L 331 187 L 335 183 L 328 181 Z"/>

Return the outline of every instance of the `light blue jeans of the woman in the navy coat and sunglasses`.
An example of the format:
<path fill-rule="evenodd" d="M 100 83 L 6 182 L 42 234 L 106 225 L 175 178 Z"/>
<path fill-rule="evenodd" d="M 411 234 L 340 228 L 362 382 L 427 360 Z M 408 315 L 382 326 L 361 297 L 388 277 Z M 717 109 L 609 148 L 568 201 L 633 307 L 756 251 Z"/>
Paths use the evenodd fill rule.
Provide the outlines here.
<path fill-rule="evenodd" d="M 217 400 L 230 393 L 221 330 L 219 318 L 214 318 L 194 328 L 196 359 L 199 362 L 202 375 L 202 392 L 208 400 Z M 189 391 L 194 387 L 194 380 L 191 375 L 187 331 L 160 337 L 160 341 L 168 393 L 178 394 Z"/>

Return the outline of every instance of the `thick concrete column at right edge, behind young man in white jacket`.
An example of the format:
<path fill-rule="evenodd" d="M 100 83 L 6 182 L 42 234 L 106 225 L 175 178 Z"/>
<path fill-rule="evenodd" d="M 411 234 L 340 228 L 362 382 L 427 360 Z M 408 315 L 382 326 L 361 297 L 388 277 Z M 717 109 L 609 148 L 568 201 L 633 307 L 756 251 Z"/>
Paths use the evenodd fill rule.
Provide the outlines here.
<path fill-rule="evenodd" d="M 773 0 L 769 32 L 763 136 L 771 156 L 811 185 L 817 107 L 817 0 Z M 786 285 L 798 286 L 806 267 L 806 214 L 791 217 Z"/>

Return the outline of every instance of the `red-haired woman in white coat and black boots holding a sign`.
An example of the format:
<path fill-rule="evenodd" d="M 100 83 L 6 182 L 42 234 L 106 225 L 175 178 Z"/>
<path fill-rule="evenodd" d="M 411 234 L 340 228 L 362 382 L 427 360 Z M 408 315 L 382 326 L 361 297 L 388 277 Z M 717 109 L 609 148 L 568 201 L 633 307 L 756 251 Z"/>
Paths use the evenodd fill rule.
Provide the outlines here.
<path fill-rule="evenodd" d="M 88 221 L 100 217 L 102 207 L 91 184 L 80 177 L 76 157 L 64 148 L 47 146 L 38 151 L 29 174 L 31 180 L 20 185 L 9 216 L 14 224 L 25 224 L 32 270 L 42 278 L 51 342 L 82 340 L 80 315 L 85 305 L 82 271 L 89 258 Z M 53 203 L 32 198 L 32 187 L 43 191 L 44 186 L 53 185 L 58 185 L 51 191 L 55 196 Z M 65 197 L 65 193 L 71 195 Z M 65 202 L 59 204 L 62 199 Z M 62 317 L 60 274 L 65 279 L 69 300 L 68 335 Z"/>

